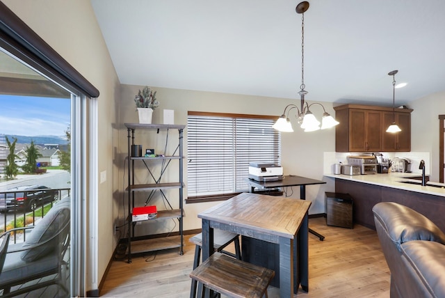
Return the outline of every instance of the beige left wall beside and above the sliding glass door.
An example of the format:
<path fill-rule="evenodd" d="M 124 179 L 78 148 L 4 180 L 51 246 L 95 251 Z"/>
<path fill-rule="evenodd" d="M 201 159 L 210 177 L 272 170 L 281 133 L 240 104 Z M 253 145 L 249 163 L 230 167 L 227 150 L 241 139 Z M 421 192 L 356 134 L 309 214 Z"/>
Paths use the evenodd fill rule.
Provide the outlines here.
<path fill-rule="evenodd" d="M 106 171 L 107 180 L 99 184 L 97 196 L 90 198 L 99 205 L 100 212 L 88 214 L 98 223 L 97 226 L 88 226 L 88 245 L 97 247 L 99 253 L 96 255 L 93 251 L 88 254 L 86 276 L 86 290 L 95 290 L 112 258 L 116 243 L 113 218 L 118 206 L 111 203 L 111 198 L 117 183 L 114 181 L 117 166 L 113 164 L 113 148 L 119 141 L 115 139 L 118 134 L 113 127 L 118 118 L 115 109 L 120 88 L 118 77 L 89 0 L 3 0 L 3 3 L 100 92 L 97 113 L 99 159 L 97 164 L 91 166 L 97 167 L 97 173 Z"/>

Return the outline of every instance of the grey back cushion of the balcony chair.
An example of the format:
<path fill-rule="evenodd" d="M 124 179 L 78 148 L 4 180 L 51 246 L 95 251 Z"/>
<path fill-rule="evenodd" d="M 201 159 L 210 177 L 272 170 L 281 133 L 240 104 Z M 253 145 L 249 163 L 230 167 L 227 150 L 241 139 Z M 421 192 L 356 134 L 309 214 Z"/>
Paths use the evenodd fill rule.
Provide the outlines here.
<path fill-rule="evenodd" d="M 45 242 L 54 235 L 58 235 L 60 231 L 65 228 L 69 230 L 70 226 L 67 223 L 70 221 L 70 201 L 60 201 L 49 210 L 49 212 L 35 225 L 31 233 L 27 235 L 26 241 L 22 244 L 22 249 L 29 246 L 35 246 Z M 33 247 L 22 251 L 21 258 L 25 262 L 33 262 L 38 258 L 46 256 L 47 253 L 54 251 L 58 247 L 58 243 L 62 241 L 59 237 L 48 241 L 40 246 Z"/>

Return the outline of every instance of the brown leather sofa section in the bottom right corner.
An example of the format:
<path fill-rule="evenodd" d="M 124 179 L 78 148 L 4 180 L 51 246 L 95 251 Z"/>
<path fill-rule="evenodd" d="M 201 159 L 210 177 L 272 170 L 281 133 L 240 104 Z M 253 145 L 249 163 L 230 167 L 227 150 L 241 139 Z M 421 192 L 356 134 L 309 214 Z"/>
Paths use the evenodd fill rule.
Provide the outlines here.
<path fill-rule="evenodd" d="M 401 245 L 402 262 L 411 276 L 412 297 L 444 297 L 445 245 L 430 241 L 410 241 Z M 419 285 L 418 285 L 419 284 Z M 418 285 L 413 288 L 413 285 Z M 423 285 L 423 286 L 422 286 Z M 414 296 L 415 295 L 415 296 Z"/>

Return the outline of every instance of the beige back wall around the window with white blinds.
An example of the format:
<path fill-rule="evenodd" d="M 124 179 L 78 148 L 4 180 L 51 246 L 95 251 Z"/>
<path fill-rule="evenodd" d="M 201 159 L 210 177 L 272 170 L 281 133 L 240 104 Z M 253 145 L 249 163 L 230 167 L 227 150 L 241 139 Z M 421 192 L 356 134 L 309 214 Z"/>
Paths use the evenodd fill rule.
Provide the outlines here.
<path fill-rule="evenodd" d="M 122 85 L 121 88 L 121 102 L 118 109 L 121 111 L 119 123 L 120 124 L 120 140 L 124 140 L 127 137 L 127 129 L 123 123 L 138 123 L 138 113 L 133 103 L 133 97 L 138 93 L 139 89 L 143 86 L 131 86 Z M 276 115 L 280 116 L 286 104 L 299 104 L 299 100 L 286 100 L 282 98 L 271 97 L 257 97 L 249 95 L 234 95 L 227 93 L 211 93 L 203 91 L 187 91 L 170 88 L 156 88 L 156 98 L 160 101 L 160 106 L 154 111 L 153 123 L 163 123 L 163 109 L 175 110 L 175 124 L 187 123 L 187 111 L 209 111 L 209 112 L 221 112 L 221 113 L 250 113 L 259 115 Z M 334 114 L 332 104 L 325 103 L 325 108 L 328 112 Z M 321 116 L 323 110 L 315 106 L 312 112 L 316 116 Z M 335 150 L 335 133 L 334 130 L 318 131 L 305 133 L 300 130 L 296 125 L 296 120 L 293 122 L 293 133 L 282 134 L 282 166 L 284 168 L 285 175 L 304 175 L 309 178 L 323 180 L 323 152 Z M 177 135 L 177 134 L 176 134 Z M 186 154 L 186 135 L 184 134 L 184 154 Z M 174 136 L 174 134 L 172 134 Z M 153 144 L 158 142 L 158 146 L 162 147 L 162 143 L 156 140 L 159 136 L 155 134 L 144 135 L 144 140 L 147 140 L 147 144 Z M 177 141 L 172 138 L 170 142 Z M 137 142 L 136 142 L 137 143 Z M 140 142 L 142 143 L 142 142 Z M 142 143 L 143 148 L 147 148 Z M 156 148 L 155 148 L 156 150 Z M 120 160 L 115 163 L 120 164 L 120 190 L 119 194 L 122 194 L 123 187 L 126 185 L 126 181 L 122 181 L 124 177 L 124 156 L 127 154 L 127 141 L 122 141 L 119 146 L 119 154 L 117 155 Z M 184 182 L 187 185 L 186 180 L 186 166 L 184 163 Z M 125 168 L 127 171 L 127 168 Z M 173 170 L 175 171 L 175 170 Z M 127 173 L 127 172 L 125 172 Z M 126 178 L 125 178 L 126 179 Z M 333 191 L 332 184 L 328 185 L 314 185 L 308 186 L 307 199 L 312 201 L 312 207 L 309 210 L 309 214 L 318 214 L 325 212 L 324 210 L 324 193 L 325 191 Z M 186 197 L 186 189 L 184 191 L 184 197 Z M 288 189 L 289 195 L 293 198 L 300 197 L 300 188 L 293 187 Z M 115 200 L 119 201 L 122 196 L 116 196 Z M 192 230 L 201 227 L 201 222 L 197 219 L 197 214 L 202 210 L 205 210 L 215 203 L 195 203 L 185 204 L 184 209 L 186 217 L 184 218 L 184 230 Z M 123 214 L 120 214 L 120 221 L 123 220 Z M 169 228 L 172 226 L 169 225 Z M 159 229 L 154 228 L 152 224 L 147 228 L 147 233 L 153 231 L 160 232 Z M 177 230 L 177 228 L 175 229 Z M 164 231 L 165 232 L 165 231 Z"/>

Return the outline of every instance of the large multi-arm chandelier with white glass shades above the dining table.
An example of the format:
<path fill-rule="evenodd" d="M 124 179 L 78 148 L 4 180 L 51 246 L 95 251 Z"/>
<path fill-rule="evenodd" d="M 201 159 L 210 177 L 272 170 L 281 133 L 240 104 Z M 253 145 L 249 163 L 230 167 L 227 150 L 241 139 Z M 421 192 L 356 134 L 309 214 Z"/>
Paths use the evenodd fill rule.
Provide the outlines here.
<path fill-rule="evenodd" d="M 338 125 L 339 122 L 335 120 L 329 113 L 326 112 L 323 104 L 318 102 L 314 102 L 312 104 L 307 104 L 305 102 L 305 95 L 307 95 L 307 91 L 305 91 L 305 12 L 309 8 L 309 2 L 303 1 L 298 4 L 296 7 L 296 12 L 301 14 L 301 85 L 300 91 L 298 94 L 300 95 L 300 109 L 295 104 L 289 104 L 284 108 L 284 112 L 280 118 L 278 118 L 277 122 L 272 126 L 275 130 L 279 130 L 280 132 L 293 132 L 291 121 L 289 120 L 289 112 L 292 109 L 296 109 L 298 111 L 298 123 L 300 127 L 305 130 L 305 132 L 314 132 L 315 130 L 324 130 L 326 128 L 334 127 Z M 318 104 L 323 108 L 323 118 L 320 121 L 314 116 L 314 114 L 309 110 L 309 107 L 312 105 Z M 288 110 L 289 108 L 289 110 Z M 287 111 L 287 113 L 286 113 Z"/>

